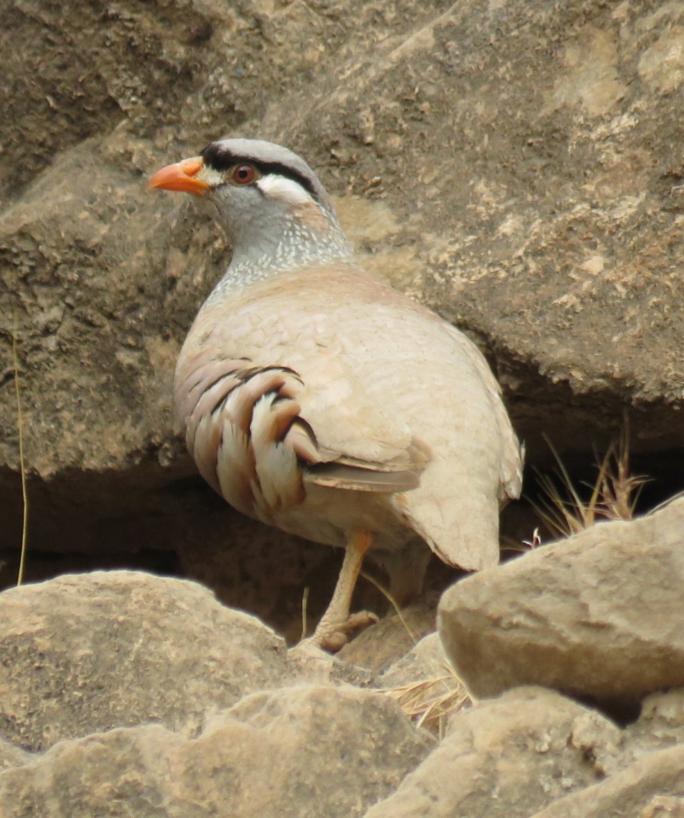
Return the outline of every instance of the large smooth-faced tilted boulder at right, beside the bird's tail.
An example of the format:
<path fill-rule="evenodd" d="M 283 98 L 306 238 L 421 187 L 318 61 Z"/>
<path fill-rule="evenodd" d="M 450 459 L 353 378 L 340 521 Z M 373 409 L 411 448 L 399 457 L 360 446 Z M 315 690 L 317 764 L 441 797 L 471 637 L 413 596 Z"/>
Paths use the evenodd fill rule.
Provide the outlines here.
<path fill-rule="evenodd" d="M 684 500 L 452 586 L 439 634 L 475 696 L 537 684 L 636 708 L 684 685 Z"/>

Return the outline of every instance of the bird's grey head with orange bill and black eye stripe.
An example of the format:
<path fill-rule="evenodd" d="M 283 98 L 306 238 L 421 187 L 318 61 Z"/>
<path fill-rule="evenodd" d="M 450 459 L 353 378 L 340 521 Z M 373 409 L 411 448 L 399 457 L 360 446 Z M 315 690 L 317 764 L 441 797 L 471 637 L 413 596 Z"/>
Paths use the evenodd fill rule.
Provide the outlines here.
<path fill-rule="evenodd" d="M 155 173 L 147 187 L 191 193 L 214 205 L 233 245 L 233 263 L 275 253 L 308 258 L 325 248 L 339 257 L 351 252 L 316 174 L 272 142 L 209 142 L 199 156 Z"/>

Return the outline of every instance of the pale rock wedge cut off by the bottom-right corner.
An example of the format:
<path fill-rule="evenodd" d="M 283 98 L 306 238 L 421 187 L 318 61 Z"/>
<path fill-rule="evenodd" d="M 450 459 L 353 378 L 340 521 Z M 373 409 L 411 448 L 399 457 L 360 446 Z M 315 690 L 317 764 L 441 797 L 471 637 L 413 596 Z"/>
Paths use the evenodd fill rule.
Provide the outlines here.
<path fill-rule="evenodd" d="M 532 818 L 682 818 L 684 745 L 649 753 L 627 770 L 551 804 Z"/>

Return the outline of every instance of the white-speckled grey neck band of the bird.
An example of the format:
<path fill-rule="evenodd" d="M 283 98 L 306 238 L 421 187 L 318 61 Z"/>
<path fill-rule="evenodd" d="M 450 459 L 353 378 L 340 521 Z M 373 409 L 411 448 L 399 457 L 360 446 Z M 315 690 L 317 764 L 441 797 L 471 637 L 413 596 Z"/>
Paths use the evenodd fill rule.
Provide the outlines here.
<path fill-rule="evenodd" d="M 246 244 L 246 246 L 245 246 Z M 220 299 L 224 293 L 241 289 L 256 281 L 265 281 L 278 273 L 311 263 L 350 261 L 353 249 L 335 217 L 330 228 L 321 233 L 300 222 L 291 221 L 276 240 L 238 243 L 231 263 L 207 303 Z"/>

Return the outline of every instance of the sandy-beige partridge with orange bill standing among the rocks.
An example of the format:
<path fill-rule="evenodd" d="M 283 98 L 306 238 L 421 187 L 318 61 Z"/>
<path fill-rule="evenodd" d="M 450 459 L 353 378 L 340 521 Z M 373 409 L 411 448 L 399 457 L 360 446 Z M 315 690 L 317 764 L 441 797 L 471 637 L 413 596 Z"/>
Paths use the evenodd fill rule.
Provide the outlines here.
<path fill-rule="evenodd" d="M 497 564 L 523 450 L 479 348 L 362 267 L 286 147 L 223 138 L 147 187 L 207 203 L 232 246 L 174 376 L 197 469 L 243 514 L 344 548 L 313 644 L 334 652 L 372 621 L 350 613 L 368 551 L 400 604 L 431 553 L 466 571 Z"/>

